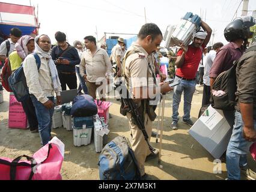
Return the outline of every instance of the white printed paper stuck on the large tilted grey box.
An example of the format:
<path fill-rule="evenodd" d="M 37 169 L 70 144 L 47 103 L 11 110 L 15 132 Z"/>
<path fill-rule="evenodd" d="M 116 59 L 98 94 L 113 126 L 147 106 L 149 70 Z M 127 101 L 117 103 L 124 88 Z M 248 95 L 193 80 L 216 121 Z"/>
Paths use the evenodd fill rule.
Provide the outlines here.
<path fill-rule="evenodd" d="M 218 122 L 221 121 L 223 118 L 224 117 L 217 110 L 213 109 L 212 106 L 209 106 L 200 117 L 200 121 L 202 121 L 206 125 L 206 127 L 208 127 L 212 131 L 213 128 L 218 124 Z"/>

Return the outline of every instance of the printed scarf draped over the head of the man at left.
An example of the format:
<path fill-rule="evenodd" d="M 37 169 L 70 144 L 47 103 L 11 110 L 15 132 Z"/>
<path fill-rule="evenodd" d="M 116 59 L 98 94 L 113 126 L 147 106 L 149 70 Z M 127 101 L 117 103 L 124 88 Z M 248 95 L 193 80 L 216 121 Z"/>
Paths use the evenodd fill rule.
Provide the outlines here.
<path fill-rule="evenodd" d="M 25 59 L 26 56 L 28 56 L 28 47 L 26 47 L 26 44 L 28 44 L 28 41 L 34 40 L 33 37 L 30 35 L 24 35 L 22 36 L 18 42 L 15 44 L 15 49 L 20 56 L 20 58 Z"/>

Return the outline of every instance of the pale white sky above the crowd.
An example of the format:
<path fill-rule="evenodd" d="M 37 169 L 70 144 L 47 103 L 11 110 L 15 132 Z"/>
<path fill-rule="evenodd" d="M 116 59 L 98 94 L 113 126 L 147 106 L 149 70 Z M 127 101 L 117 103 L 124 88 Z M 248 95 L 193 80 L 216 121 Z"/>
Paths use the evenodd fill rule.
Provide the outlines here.
<path fill-rule="evenodd" d="M 87 35 L 102 38 L 104 32 L 138 34 L 145 23 L 156 23 L 162 32 L 166 26 L 177 25 L 187 12 L 203 16 L 206 23 L 215 30 L 214 42 L 222 41 L 225 26 L 235 16 L 241 0 L 0 0 L 2 2 L 38 5 L 40 34 L 47 34 L 55 42 L 54 34 L 67 34 L 69 43 L 83 40 Z M 242 5 L 237 16 L 242 13 Z M 256 1 L 249 1 L 248 10 L 256 10 Z M 204 12 L 204 13 L 203 13 Z M 252 12 L 248 12 L 251 15 Z M 96 26 L 97 34 L 96 35 Z M 122 35 L 119 35 L 122 36 Z"/>

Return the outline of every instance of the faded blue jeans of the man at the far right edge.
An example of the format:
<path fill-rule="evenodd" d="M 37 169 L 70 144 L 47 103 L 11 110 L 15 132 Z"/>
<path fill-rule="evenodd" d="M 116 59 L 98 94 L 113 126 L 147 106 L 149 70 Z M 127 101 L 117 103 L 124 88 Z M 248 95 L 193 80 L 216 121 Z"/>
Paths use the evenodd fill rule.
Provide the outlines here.
<path fill-rule="evenodd" d="M 254 121 L 254 129 L 256 130 L 256 121 Z M 242 115 L 241 113 L 236 112 L 233 133 L 226 152 L 228 179 L 240 180 L 240 168 L 246 169 L 247 167 L 246 154 L 251 145 L 252 142 L 248 142 L 243 138 Z"/>

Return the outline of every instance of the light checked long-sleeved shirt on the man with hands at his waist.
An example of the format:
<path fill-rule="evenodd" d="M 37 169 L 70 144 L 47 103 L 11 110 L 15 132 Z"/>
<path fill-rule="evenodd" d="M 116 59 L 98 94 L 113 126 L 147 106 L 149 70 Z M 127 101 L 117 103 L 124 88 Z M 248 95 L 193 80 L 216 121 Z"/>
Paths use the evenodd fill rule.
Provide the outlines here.
<path fill-rule="evenodd" d="M 98 48 L 94 55 L 90 50 L 85 50 L 80 63 L 80 74 L 82 77 L 87 74 L 89 82 L 98 82 L 101 78 L 109 78 L 112 65 L 105 49 Z"/>

